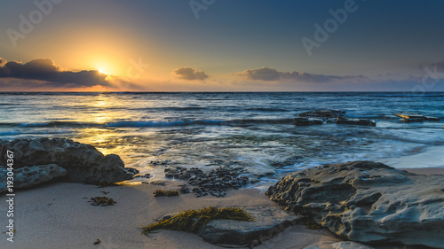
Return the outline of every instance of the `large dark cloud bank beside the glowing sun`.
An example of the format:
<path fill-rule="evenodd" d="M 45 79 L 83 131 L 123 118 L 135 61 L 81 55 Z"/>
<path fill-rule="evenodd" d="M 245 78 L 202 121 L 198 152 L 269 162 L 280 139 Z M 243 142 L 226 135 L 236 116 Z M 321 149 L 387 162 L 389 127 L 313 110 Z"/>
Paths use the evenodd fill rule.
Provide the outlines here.
<path fill-rule="evenodd" d="M 12 87 L 12 82 L 18 87 L 23 85 L 36 88 L 112 87 L 113 84 L 107 80 L 107 77 L 107 74 L 101 74 L 98 70 L 63 71 L 55 65 L 51 58 L 33 59 L 25 64 L 17 61 L 6 62 L 6 60 L 0 58 L 0 78 L 29 81 L 21 84 L 17 84 L 18 81 L 2 81 L 0 87 L 4 85 Z"/>

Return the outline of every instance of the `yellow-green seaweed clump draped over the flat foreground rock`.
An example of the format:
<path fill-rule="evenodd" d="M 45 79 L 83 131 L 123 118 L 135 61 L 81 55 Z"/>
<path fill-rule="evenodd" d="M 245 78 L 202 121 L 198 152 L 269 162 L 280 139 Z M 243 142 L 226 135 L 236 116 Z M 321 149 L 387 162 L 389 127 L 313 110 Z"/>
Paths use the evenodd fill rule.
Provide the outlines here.
<path fill-rule="evenodd" d="M 208 206 L 165 216 L 160 222 L 143 227 L 142 233 L 148 235 L 154 230 L 181 230 L 195 233 L 200 227 L 213 220 L 254 221 L 250 214 L 239 207 Z"/>

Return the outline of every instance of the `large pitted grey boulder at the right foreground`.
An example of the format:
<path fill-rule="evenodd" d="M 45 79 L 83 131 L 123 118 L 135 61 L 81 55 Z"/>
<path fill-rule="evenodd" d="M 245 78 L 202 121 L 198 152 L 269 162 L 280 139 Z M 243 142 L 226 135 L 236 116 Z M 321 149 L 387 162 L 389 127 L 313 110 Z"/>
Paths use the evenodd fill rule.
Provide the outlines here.
<path fill-rule="evenodd" d="M 444 248 L 443 183 L 444 175 L 353 161 L 291 173 L 267 194 L 350 240 Z"/>

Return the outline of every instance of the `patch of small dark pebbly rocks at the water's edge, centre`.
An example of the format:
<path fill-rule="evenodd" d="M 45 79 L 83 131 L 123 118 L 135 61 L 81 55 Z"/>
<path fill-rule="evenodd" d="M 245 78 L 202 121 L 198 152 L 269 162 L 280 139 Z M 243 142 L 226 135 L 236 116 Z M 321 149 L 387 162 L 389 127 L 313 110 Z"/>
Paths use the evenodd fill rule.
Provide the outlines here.
<path fill-rule="evenodd" d="M 181 192 L 193 192 L 197 197 L 212 195 L 216 197 L 226 196 L 229 189 L 239 189 L 250 183 L 250 178 L 241 167 L 222 166 L 211 169 L 209 172 L 203 172 L 197 167 L 167 167 L 165 168 L 165 177 L 184 180 L 194 186 L 191 190 L 182 186 Z"/>

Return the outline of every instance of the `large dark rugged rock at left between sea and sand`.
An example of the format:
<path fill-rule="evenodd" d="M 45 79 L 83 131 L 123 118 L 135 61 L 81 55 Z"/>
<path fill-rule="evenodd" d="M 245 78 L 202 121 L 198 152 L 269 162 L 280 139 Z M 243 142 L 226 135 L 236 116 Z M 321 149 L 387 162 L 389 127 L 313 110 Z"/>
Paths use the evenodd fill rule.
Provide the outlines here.
<path fill-rule="evenodd" d="M 73 183 L 120 182 L 132 179 L 137 170 L 124 167 L 115 154 L 104 156 L 89 144 L 64 138 L 36 138 L 0 141 L 0 165 L 5 165 L 6 150 L 14 155 L 14 168 L 56 164 L 67 170 L 64 181 Z"/>

